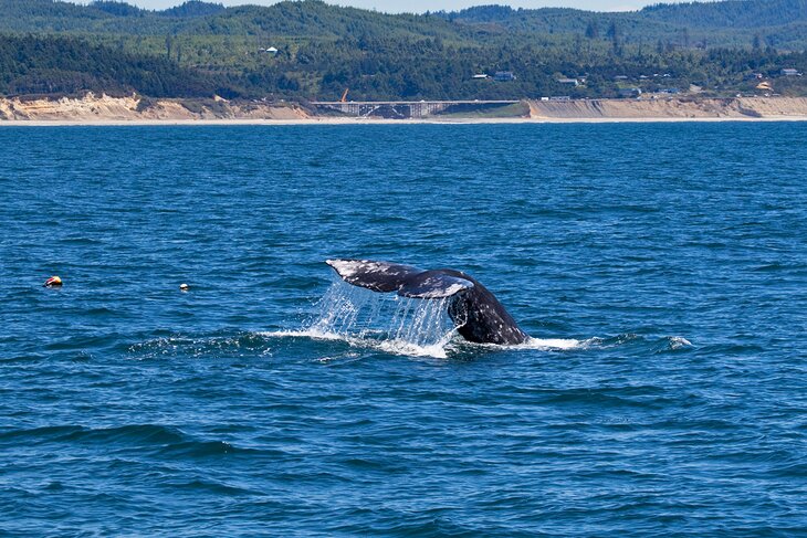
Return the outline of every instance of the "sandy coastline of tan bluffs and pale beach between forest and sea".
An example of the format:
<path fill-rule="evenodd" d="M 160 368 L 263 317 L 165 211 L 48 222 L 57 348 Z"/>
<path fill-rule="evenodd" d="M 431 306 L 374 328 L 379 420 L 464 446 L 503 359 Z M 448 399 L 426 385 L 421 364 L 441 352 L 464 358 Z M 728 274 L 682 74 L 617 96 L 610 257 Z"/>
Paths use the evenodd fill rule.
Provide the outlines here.
<path fill-rule="evenodd" d="M 192 125 L 482 125 L 807 122 L 805 97 L 647 98 L 523 101 L 523 115 L 452 114 L 405 119 L 318 115 L 295 103 L 233 103 L 216 98 L 188 103 L 96 96 L 60 99 L 0 97 L 3 126 L 192 126 Z"/>

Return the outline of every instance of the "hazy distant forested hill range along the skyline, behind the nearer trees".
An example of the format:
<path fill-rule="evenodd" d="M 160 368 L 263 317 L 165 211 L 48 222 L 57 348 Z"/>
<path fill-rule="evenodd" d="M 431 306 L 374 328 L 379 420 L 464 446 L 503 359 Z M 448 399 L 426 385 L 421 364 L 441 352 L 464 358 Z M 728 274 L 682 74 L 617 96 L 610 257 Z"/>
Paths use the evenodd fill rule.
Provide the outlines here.
<path fill-rule="evenodd" d="M 0 0 L 0 31 L 125 34 L 195 33 L 295 38 L 359 35 L 439 36 L 467 41 L 517 33 L 517 39 L 555 34 L 606 34 L 611 27 L 627 42 L 706 40 L 713 46 L 750 45 L 754 35 L 783 50 L 807 46 L 807 0 L 729 0 L 657 4 L 635 12 L 513 9 L 481 6 L 423 15 L 339 8 L 316 0 L 224 8 L 189 1 L 164 11 L 103 0 L 78 6 L 53 0 Z M 752 32 L 751 34 L 748 32 Z"/>

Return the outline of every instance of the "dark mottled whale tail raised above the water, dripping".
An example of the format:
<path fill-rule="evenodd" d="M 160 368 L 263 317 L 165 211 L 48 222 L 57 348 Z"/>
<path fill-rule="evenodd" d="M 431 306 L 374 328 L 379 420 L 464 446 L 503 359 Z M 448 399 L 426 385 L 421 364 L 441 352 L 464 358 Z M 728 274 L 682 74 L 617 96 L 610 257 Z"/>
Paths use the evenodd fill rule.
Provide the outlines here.
<path fill-rule="evenodd" d="M 448 315 L 468 341 L 511 346 L 530 339 L 495 295 L 462 271 L 421 270 L 373 260 L 326 260 L 325 263 L 346 283 L 373 292 L 395 292 L 401 297 L 420 299 L 450 297 Z"/>

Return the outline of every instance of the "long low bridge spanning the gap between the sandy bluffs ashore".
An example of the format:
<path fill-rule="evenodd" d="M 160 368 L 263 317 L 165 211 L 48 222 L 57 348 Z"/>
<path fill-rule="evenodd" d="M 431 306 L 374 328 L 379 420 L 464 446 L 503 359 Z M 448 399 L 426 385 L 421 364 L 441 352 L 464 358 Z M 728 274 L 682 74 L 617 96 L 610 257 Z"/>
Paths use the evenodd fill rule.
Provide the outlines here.
<path fill-rule="evenodd" d="M 441 112 L 469 112 L 514 105 L 517 101 L 315 101 L 317 108 L 338 110 L 347 116 L 385 118 L 422 118 Z"/>

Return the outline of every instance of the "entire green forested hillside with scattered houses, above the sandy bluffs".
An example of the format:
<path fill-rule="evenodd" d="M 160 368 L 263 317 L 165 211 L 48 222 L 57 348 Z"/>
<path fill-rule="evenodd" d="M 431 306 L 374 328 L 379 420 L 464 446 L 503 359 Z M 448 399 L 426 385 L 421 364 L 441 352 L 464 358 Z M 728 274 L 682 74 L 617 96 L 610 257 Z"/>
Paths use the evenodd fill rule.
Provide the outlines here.
<path fill-rule="evenodd" d="M 0 0 L 0 93 L 266 99 L 807 94 L 807 0 L 387 14 Z M 786 76 L 784 70 L 794 73 Z M 764 84 L 763 84 L 764 83 Z"/>

